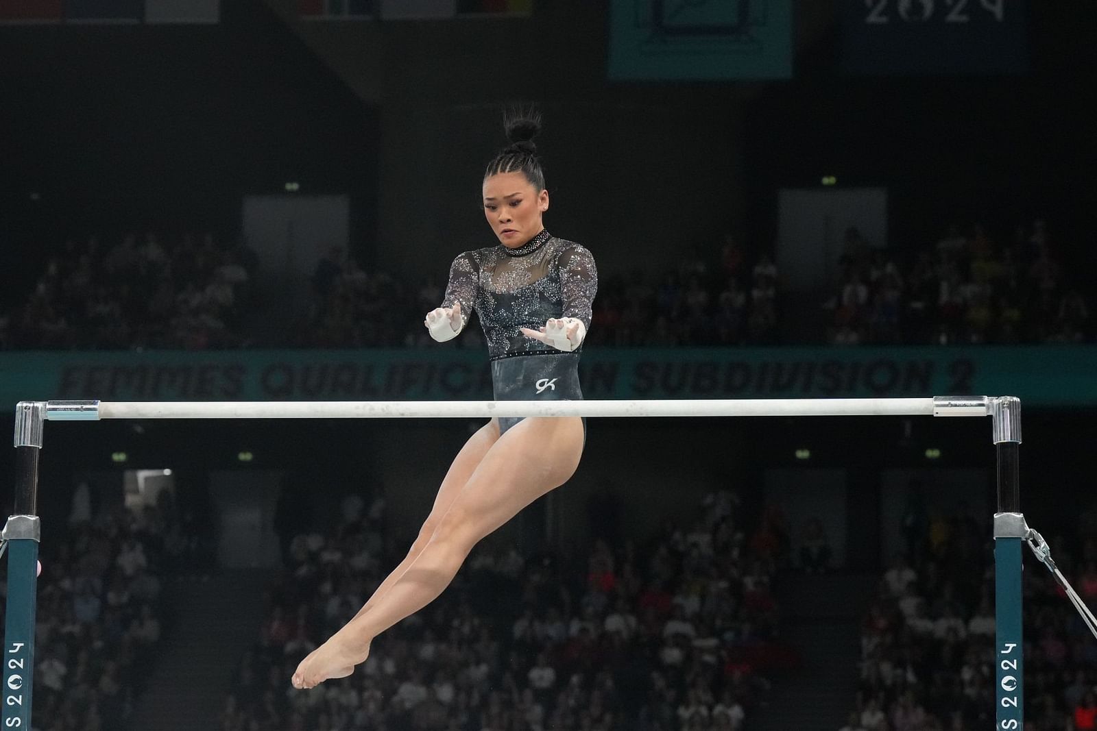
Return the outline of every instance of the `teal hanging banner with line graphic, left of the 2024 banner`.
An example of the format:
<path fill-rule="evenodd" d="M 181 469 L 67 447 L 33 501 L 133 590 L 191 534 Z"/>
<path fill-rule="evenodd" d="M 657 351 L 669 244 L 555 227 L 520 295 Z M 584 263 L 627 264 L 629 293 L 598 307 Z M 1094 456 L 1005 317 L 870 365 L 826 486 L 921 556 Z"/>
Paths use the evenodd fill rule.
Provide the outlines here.
<path fill-rule="evenodd" d="M 613 0 L 611 80 L 791 76 L 791 0 Z"/>

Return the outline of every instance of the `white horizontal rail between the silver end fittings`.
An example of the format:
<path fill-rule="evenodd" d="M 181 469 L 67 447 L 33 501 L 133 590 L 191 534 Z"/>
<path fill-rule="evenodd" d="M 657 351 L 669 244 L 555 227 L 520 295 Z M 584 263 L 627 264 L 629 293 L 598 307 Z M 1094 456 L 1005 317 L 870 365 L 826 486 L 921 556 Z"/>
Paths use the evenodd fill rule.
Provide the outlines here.
<path fill-rule="evenodd" d="M 60 408 L 61 403 L 64 402 L 52 401 L 50 406 L 56 404 Z M 97 411 L 99 419 L 932 416 L 935 413 L 932 398 L 668 401 L 103 401 L 98 404 Z M 985 412 L 980 415 L 985 415 Z M 84 418 L 97 416 L 87 413 Z"/>

